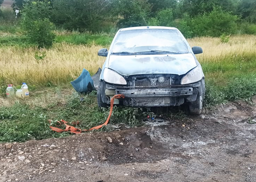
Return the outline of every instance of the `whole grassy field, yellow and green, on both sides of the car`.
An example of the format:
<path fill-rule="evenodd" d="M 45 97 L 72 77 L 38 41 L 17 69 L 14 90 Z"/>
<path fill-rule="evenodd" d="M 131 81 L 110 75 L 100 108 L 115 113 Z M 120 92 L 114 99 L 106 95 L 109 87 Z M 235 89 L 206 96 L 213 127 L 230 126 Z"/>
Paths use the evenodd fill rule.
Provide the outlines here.
<path fill-rule="evenodd" d="M 2 31 L 0 41 L 5 40 L 5 44 L 0 47 L 0 142 L 69 135 L 52 132 L 47 119 L 79 120 L 80 128 L 102 123 L 108 110 L 99 111 L 96 93 L 79 96 L 69 82 L 83 68 L 93 74 L 102 66 L 104 57 L 97 56 L 97 51 L 109 47 L 112 37 L 112 34 L 58 32 L 51 49 L 38 50 L 29 46 L 18 32 Z M 205 73 L 206 107 L 236 99 L 249 100 L 256 95 L 256 36 L 232 36 L 228 43 L 210 37 L 188 41 L 204 50 L 197 57 Z M 19 88 L 22 82 L 28 83 L 31 98 L 6 99 L 7 84 Z M 178 109 L 155 113 L 165 118 L 186 117 Z M 154 113 L 140 108 L 115 108 L 110 123 L 140 126 L 147 115 Z"/>

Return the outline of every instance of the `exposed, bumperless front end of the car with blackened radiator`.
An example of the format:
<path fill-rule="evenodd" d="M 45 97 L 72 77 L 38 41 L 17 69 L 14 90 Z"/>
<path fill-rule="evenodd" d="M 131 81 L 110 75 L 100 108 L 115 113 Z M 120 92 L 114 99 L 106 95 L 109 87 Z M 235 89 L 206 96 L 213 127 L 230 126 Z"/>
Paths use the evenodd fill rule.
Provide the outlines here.
<path fill-rule="evenodd" d="M 194 102 L 198 94 L 202 94 L 201 84 L 204 84 L 203 79 L 181 85 L 182 77 L 171 74 L 133 75 L 126 77 L 126 86 L 102 81 L 99 91 L 106 104 L 114 95 L 124 94 L 125 99 L 116 99 L 115 104 L 132 107 L 180 106 Z"/>

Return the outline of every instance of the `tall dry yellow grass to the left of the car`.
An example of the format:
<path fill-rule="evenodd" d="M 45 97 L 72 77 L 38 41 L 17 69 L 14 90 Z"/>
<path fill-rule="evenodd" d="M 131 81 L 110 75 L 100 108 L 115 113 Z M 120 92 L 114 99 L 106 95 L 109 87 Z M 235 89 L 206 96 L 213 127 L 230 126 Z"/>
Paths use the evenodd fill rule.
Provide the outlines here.
<path fill-rule="evenodd" d="M 97 56 L 100 46 L 55 44 L 50 50 L 7 47 L 0 49 L 0 80 L 20 85 L 22 82 L 44 85 L 66 83 L 80 75 L 82 69 L 95 73 L 104 63 Z M 36 59 L 35 55 L 46 56 Z"/>

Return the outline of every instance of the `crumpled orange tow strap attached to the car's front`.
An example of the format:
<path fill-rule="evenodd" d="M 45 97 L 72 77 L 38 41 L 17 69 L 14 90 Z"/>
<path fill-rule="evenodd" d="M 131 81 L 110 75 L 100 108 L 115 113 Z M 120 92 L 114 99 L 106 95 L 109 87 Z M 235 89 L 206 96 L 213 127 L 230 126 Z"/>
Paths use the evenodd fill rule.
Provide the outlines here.
<path fill-rule="evenodd" d="M 124 95 L 123 95 L 123 94 L 115 95 L 115 96 L 113 96 L 113 97 L 111 98 L 111 100 L 110 100 L 109 116 L 108 116 L 106 122 L 104 122 L 102 125 L 95 126 L 95 127 L 91 128 L 91 129 L 83 129 L 83 130 L 82 130 L 82 129 L 79 129 L 79 128 L 75 128 L 74 126 L 69 126 L 69 125 L 67 124 L 68 122 L 66 122 L 66 121 L 64 121 L 63 119 L 61 119 L 61 121 L 57 121 L 57 122 L 59 123 L 58 126 L 61 126 L 61 123 L 63 122 L 63 123 L 65 124 L 65 126 L 66 126 L 65 129 L 60 129 L 60 128 L 53 127 L 53 126 L 50 126 L 50 128 L 51 128 L 52 131 L 55 131 L 55 132 L 68 132 L 68 131 L 69 131 L 69 132 L 75 133 L 75 134 L 82 133 L 83 131 L 91 131 L 91 130 L 93 130 L 93 129 L 100 129 L 100 128 L 102 128 L 102 126 L 106 126 L 106 125 L 108 124 L 108 122 L 109 122 L 109 119 L 110 119 L 111 114 L 112 114 L 112 111 L 113 111 L 114 100 L 115 100 L 115 99 L 121 99 L 121 98 L 124 99 Z M 49 121 L 50 124 L 51 124 L 52 120 L 48 120 L 48 121 Z M 79 122 L 75 122 L 75 123 L 78 124 Z"/>

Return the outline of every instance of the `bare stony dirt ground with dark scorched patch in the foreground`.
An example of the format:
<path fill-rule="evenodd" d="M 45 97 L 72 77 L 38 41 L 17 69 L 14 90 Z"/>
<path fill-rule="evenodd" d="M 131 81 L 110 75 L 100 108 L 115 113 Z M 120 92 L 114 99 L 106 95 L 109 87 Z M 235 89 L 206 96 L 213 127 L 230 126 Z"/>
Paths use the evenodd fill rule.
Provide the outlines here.
<path fill-rule="evenodd" d="M 256 182 L 254 118 L 241 101 L 143 128 L 0 144 L 0 182 Z"/>

